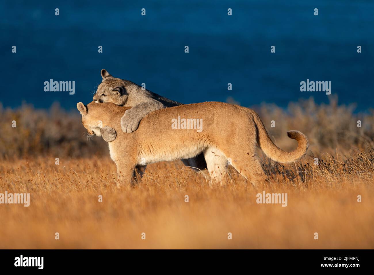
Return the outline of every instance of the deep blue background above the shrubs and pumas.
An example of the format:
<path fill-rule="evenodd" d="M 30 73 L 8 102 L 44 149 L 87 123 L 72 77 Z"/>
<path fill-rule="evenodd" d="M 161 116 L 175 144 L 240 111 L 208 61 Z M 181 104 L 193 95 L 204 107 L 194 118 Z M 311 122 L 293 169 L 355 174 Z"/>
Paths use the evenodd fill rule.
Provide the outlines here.
<path fill-rule="evenodd" d="M 359 111 L 373 107 L 368 1 L 3 1 L 0 10 L 4 107 L 88 103 L 103 68 L 182 103 L 232 97 L 243 106 L 286 107 L 338 96 Z M 75 94 L 45 92 L 50 79 L 75 81 Z M 307 79 L 331 81 L 331 95 L 300 92 Z"/>

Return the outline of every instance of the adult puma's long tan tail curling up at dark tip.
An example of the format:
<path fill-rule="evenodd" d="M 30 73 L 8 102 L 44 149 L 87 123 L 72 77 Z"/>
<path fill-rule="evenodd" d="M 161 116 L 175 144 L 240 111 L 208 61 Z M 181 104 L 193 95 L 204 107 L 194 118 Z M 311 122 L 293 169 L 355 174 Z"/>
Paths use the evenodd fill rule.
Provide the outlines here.
<path fill-rule="evenodd" d="M 265 153 L 265 155 L 267 155 L 267 157 L 280 163 L 291 163 L 305 155 L 309 147 L 309 142 L 306 135 L 296 130 L 287 132 L 289 138 L 297 140 L 297 148 L 292 152 L 283 151 L 270 139 L 258 114 L 254 112 L 253 118 L 257 126 L 258 146 L 260 146 L 261 150 Z"/>

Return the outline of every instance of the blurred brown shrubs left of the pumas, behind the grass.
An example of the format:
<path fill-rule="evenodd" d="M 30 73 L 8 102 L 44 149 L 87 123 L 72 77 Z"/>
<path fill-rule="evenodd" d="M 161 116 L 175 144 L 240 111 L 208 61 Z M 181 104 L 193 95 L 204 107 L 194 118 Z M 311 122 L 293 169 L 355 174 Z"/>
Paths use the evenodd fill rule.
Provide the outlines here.
<path fill-rule="evenodd" d="M 90 139 L 78 111 L 65 111 L 57 103 L 49 110 L 23 104 L 17 109 L 0 106 L 0 157 L 52 155 L 83 157 L 107 155 L 107 143 Z M 12 121 L 16 127 L 12 127 Z"/>

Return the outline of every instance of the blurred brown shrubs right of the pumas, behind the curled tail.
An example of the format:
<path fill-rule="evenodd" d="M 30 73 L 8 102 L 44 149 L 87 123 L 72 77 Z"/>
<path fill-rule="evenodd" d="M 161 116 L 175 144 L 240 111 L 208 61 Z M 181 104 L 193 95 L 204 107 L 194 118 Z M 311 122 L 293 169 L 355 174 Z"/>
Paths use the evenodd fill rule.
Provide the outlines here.
<path fill-rule="evenodd" d="M 272 104 L 263 104 L 259 110 L 269 135 L 278 146 L 292 148 L 286 135 L 288 130 L 299 130 L 309 139 L 314 154 L 339 148 L 364 149 L 373 145 L 374 110 L 355 113 L 354 105 L 337 105 L 337 98 L 331 97 L 329 104 L 316 105 L 313 98 L 290 103 L 287 110 Z M 270 127 L 275 121 L 274 128 Z M 362 127 L 357 127 L 358 120 Z"/>

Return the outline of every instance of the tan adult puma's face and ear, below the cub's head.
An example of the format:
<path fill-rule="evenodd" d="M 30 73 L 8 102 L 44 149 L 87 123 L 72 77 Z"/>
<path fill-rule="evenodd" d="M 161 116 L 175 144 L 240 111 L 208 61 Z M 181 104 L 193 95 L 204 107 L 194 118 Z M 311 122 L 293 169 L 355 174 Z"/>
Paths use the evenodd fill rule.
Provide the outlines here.
<path fill-rule="evenodd" d="M 102 121 L 98 120 L 98 112 L 95 110 L 94 102 L 84 105 L 82 102 L 77 103 L 77 109 L 82 115 L 82 124 L 90 135 L 101 136 L 100 129 Z M 88 111 L 89 110 L 89 111 Z"/>

